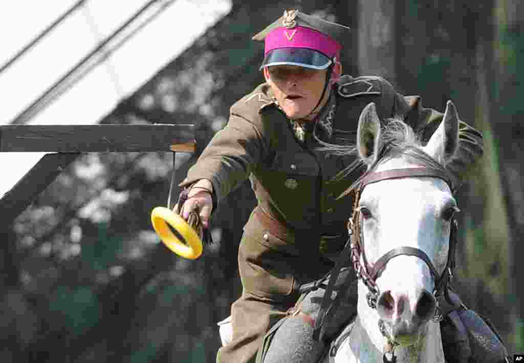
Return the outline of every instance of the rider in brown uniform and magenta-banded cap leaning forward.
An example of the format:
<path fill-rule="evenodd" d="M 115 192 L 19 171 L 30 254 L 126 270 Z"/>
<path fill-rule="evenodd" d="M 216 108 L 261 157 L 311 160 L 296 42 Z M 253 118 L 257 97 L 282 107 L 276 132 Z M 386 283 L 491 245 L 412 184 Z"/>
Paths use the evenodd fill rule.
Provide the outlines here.
<path fill-rule="evenodd" d="M 231 308 L 233 339 L 217 362 L 253 362 L 265 333 L 296 303 L 298 287 L 326 274 L 347 240 L 351 196 L 335 198 L 361 171 L 333 182 L 355 156 L 322 146 L 355 143 L 358 117 L 371 102 L 381 120 L 400 117 L 425 140 L 442 120 L 420 97 L 398 94 L 383 78 L 342 75 L 349 32 L 289 10 L 255 35 L 265 42 L 266 83 L 231 107 L 228 123 L 180 184 L 189 188 L 182 217 L 199 210 L 204 227 L 246 178 L 258 200 L 238 251 L 243 292 Z M 482 135 L 461 122 L 459 144 L 449 169 L 460 179 L 482 156 Z"/>

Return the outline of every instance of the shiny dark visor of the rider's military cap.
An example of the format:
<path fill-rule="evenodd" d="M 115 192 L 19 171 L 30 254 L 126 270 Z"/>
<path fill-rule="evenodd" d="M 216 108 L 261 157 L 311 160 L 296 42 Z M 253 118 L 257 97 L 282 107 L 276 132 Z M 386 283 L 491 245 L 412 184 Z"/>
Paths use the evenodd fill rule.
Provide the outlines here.
<path fill-rule="evenodd" d="M 298 65 L 314 70 L 324 70 L 331 64 L 325 54 L 307 48 L 280 48 L 267 52 L 260 69 L 271 65 Z"/>

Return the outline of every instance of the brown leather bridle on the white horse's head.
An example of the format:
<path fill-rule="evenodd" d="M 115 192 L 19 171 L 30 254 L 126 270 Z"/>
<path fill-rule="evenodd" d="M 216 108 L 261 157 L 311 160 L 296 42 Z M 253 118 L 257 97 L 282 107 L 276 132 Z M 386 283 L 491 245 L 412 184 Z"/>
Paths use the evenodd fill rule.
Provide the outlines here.
<path fill-rule="evenodd" d="M 454 217 L 451 220 L 451 232 L 450 232 L 450 241 L 449 241 L 449 252 L 447 255 L 447 262 L 444 268 L 442 275 L 439 276 L 435 266 L 431 262 L 427 254 L 425 254 L 421 249 L 414 247 L 398 247 L 391 249 L 383 256 L 381 256 L 373 267 L 369 266 L 366 258 L 366 253 L 364 250 L 364 236 L 362 234 L 362 216 L 361 210 L 358 208 L 360 202 L 360 197 L 364 188 L 372 183 L 377 181 L 387 180 L 387 179 L 397 179 L 397 178 L 411 178 L 411 177 L 434 177 L 444 180 L 452 189 L 452 183 L 450 175 L 440 169 L 429 168 L 429 167 L 420 167 L 420 168 L 403 168 L 403 169 L 392 169 L 385 172 L 375 172 L 367 174 L 361 182 L 358 184 L 358 187 L 355 191 L 355 199 L 353 205 L 353 215 L 348 221 L 347 229 L 350 234 L 350 245 L 351 245 L 351 260 L 355 273 L 358 279 L 362 279 L 369 292 L 367 294 L 367 302 L 370 308 L 376 309 L 377 299 L 380 294 L 378 289 L 376 279 L 381 270 L 386 267 L 386 264 L 391 258 L 397 256 L 416 256 L 421 258 L 429 267 L 431 276 L 435 280 L 435 289 L 433 290 L 433 295 L 436 297 L 444 294 L 447 301 L 451 302 L 449 294 L 447 293 L 447 285 L 453 277 L 453 271 L 455 269 L 455 249 L 456 249 L 456 231 L 457 231 L 457 222 Z M 362 259 L 362 263 L 361 263 Z M 440 309 L 437 309 L 435 312 L 434 320 L 442 320 L 440 314 Z"/>

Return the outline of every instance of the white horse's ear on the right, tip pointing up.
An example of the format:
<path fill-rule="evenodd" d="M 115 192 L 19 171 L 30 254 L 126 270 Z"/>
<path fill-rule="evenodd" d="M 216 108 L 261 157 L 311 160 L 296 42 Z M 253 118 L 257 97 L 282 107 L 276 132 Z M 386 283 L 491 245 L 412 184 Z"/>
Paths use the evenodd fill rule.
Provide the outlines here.
<path fill-rule="evenodd" d="M 447 101 L 440 126 L 433 133 L 424 150 L 442 164 L 447 164 L 459 147 L 459 115 L 453 102 Z"/>

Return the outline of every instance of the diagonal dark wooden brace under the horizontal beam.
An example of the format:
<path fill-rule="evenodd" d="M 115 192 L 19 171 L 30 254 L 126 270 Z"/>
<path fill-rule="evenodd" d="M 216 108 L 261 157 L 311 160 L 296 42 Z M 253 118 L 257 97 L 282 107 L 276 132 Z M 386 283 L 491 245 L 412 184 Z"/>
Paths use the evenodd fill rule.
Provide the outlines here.
<path fill-rule="evenodd" d="M 18 214 L 23 212 L 79 155 L 79 153 L 44 155 L 12 189 L 0 198 L 2 223 L 13 222 Z"/>

